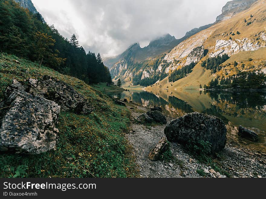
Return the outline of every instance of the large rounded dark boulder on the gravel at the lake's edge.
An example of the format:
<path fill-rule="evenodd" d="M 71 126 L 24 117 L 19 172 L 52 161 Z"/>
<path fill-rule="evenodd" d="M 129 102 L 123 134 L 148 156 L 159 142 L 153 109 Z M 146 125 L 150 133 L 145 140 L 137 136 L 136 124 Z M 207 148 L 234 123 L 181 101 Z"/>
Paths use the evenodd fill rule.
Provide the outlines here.
<path fill-rule="evenodd" d="M 209 141 L 211 153 L 219 152 L 225 147 L 226 128 L 224 122 L 215 116 L 202 113 L 189 113 L 170 122 L 164 129 L 170 142 L 183 145 Z"/>

